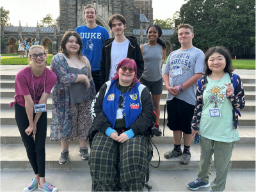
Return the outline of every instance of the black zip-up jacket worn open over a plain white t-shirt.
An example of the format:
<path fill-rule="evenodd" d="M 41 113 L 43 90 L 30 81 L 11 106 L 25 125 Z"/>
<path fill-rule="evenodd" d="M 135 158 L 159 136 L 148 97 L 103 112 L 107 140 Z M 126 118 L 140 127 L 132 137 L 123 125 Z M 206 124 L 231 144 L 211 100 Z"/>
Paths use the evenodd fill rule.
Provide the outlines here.
<path fill-rule="evenodd" d="M 137 79 L 140 79 L 141 74 L 144 71 L 144 61 L 140 51 L 140 45 L 137 42 L 135 36 L 125 36 L 129 41 L 129 47 L 127 52 L 127 58 L 135 60 L 137 64 Z M 111 47 L 115 38 L 109 38 L 104 41 L 104 45 L 101 51 L 100 60 L 100 87 L 108 81 L 110 65 L 111 65 Z"/>

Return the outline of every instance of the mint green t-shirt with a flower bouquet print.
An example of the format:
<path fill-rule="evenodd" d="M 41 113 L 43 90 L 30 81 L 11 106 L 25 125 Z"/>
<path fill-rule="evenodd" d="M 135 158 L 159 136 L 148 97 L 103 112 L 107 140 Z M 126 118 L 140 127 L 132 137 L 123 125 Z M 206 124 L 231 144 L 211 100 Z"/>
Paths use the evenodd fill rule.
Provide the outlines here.
<path fill-rule="evenodd" d="M 215 81 L 207 76 L 207 81 L 203 94 L 200 134 L 209 140 L 226 143 L 239 140 L 238 131 L 233 128 L 232 104 L 226 97 L 225 84 L 231 83 L 229 74 L 226 73 L 222 79 Z M 209 109 L 220 109 L 221 116 L 210 116 Z"/>

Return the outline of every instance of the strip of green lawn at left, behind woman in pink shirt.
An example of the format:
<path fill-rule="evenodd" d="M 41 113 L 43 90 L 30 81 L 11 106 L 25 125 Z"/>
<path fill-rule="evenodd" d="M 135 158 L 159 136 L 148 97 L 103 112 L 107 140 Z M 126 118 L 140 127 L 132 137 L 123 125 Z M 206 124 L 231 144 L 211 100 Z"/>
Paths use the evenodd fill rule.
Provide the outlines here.
<path fill-rule="evenodd" d="M 47 65 L 50 65 L 53 56 L 47 56 Z M 1 65 L 28 65 L 28 58 L 2 58 Z"/>

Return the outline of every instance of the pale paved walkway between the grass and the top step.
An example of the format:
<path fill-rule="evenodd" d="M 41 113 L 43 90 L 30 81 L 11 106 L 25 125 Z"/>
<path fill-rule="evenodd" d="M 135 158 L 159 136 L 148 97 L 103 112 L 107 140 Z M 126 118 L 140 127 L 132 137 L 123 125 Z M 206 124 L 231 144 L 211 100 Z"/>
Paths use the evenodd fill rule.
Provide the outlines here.
<path fill-rule="evenodd" d="M 2 75 L 16 75 L 17 72 L 21 68 L 27 67 L 28 65 L 0 65 L 1 70 L 0 74 Z M 49 66 L 47 66 L 50 68 Z M 243 78 L 255 78 L 255 70 L 247 70 L 247 69 L 236 69 L 234 70 L 235 74 L 238 74 L 239 76 Z"/>

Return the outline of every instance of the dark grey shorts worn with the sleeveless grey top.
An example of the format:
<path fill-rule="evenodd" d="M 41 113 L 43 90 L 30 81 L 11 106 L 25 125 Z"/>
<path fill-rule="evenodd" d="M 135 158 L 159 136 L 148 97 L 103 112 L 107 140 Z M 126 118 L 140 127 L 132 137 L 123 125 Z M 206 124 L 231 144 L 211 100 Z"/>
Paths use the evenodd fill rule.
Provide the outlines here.
<path fill-rule="evenodd" d="M 163 92 L 163 78 L 158 81 L 147 81 L 146 79 L 143 79 L 143 77 L 140 77 L 140 82 L 147 86 L 148 91 L 153 95 L 161 95 Z"/>

